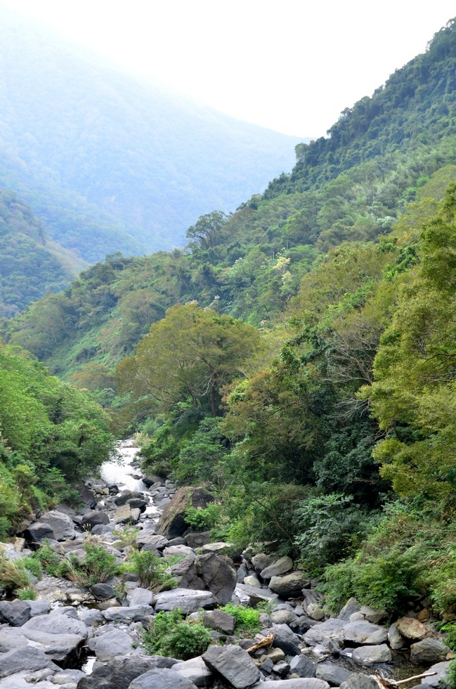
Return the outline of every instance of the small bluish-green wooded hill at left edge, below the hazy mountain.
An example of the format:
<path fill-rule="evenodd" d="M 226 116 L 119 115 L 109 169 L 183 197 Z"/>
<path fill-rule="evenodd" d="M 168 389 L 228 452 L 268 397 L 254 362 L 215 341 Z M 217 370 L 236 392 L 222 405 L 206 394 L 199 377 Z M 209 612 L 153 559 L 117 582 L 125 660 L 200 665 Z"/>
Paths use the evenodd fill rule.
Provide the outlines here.
<path fill-rule="evenodd" d="M 0 189 L 1 316 L 65 289 L 82 268 L 82 259 L 48 238 L 29 205 Z"/>

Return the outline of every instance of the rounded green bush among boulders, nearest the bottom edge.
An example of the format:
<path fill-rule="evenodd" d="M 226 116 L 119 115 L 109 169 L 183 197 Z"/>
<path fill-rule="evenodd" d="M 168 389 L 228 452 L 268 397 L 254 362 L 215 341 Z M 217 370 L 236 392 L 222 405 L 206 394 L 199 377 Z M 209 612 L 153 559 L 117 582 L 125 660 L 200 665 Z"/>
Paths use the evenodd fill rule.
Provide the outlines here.
<path fill-rule="evenodd" d="M 150 655 L 164 655 L 182 660 L 204 653 L 212 643 L 209 629 L 197 620 L 184 620 L 182 610 L 159 612 L 143 630 L 143 643 Z"/>

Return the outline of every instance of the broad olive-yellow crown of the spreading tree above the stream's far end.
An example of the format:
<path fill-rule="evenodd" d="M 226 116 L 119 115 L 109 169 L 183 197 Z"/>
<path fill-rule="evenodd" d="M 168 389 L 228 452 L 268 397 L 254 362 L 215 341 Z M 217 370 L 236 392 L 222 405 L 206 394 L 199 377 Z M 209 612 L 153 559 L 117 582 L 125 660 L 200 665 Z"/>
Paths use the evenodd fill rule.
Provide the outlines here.
<path fill-rule="evenodd" d="M 245 376 L 249 359 L 260 347 L 252 326 L 195 302 L 168 309 L 116 370 L 119 389 L 133 397 L 150 396 L 161 411 L 190 398 L 208 401 L 212 416 L 223 385 Z"/>

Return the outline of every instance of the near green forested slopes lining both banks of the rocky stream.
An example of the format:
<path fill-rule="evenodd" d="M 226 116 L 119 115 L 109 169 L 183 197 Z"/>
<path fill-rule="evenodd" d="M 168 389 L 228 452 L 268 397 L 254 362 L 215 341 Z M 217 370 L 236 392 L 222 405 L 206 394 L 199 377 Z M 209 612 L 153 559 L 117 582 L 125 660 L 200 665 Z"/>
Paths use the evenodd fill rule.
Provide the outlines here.
<path fill-rule="evenodd" d="M 454 643 L 454 27 L 345 113 L 345 143 L 299 148 L 185 249 L 114 253 L 2 320 L 5 534 L 103 456 L 108 425 L 138 432 L 147 472 L 216 495 L 192 527 L 292 555 L 328 611 L 426 597 Z M 42 423 L 16 423 L 32 405 Z"/>

